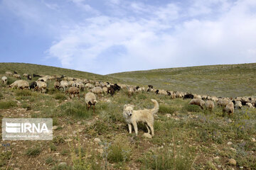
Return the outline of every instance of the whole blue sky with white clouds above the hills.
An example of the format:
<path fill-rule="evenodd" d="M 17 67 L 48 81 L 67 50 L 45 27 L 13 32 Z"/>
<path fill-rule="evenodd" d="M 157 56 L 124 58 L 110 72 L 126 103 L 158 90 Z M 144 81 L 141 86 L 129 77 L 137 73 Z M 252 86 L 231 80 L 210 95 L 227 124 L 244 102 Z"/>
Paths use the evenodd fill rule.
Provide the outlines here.
<path fill-rule="evenodd" d="M 255 0 L 0 0 L 0 62 L 97 74 L 256 62 Z"/>

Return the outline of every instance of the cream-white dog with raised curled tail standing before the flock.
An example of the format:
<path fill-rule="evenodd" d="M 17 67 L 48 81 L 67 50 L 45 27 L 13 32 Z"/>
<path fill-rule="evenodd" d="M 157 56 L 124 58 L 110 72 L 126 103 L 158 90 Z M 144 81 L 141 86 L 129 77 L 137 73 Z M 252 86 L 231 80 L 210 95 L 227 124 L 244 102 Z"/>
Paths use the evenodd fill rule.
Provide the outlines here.
<path fill-rule="evenodd" d="M 151 101 L 154 103 L 154 108 L 144 109 L 139 111 L 134 111 L 133 105 L 130 105 L 130 104 L 124 105 L 123 115 L 126 122 L 128 123 L 129 133 L 132 133 L 132 125 L 133 125 L 135 134 L 138 135 L 137 123 L 143 122 L 146 125 L 148 133 L 150 133 L 150 130 L 151 130 L 151 135 L 154 136 L 154 114 L 159 111 L 159 103 L 154 99 L 151 99 Z"/>

